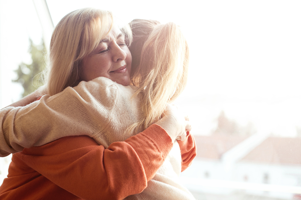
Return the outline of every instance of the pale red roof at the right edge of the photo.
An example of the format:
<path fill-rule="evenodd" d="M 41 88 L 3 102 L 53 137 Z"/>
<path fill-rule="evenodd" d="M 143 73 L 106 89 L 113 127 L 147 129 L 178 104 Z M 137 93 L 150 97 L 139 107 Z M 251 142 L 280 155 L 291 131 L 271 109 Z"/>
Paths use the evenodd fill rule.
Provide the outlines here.
<path fill-rule="evenodd" d="M 259 144 L 242 161 L 301 165 L 301 138 L 270 137 Z"/>

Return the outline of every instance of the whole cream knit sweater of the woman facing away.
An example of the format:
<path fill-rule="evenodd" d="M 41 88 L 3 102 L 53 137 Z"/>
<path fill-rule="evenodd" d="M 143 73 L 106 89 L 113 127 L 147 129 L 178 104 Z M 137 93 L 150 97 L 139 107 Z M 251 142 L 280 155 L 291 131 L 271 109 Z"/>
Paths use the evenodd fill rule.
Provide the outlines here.
<path fill-rule="evenodd" d="M 25 107 L 4 108 L 0 111 L 0 154 L 6 156 L 24 147 L 83 133 L 106 148 L 112 142 L 126 140 L 132 135 L 125 130 L 141 117 L 139 100 L 131 100 L 134 92 L 134 86 L 99 77 L 54 96 L 43 96 Z M 126 200 L 193 200 L 179 181 L 181 160 L 175 142 L 147 188 Z"/>

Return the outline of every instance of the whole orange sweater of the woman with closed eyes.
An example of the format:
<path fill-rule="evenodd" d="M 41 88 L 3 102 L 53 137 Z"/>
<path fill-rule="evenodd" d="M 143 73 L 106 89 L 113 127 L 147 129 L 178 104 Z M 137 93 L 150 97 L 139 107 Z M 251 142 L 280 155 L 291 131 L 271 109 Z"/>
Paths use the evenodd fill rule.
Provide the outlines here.
<path fill-rule="evenodd" d="M 195 157 L 188 134 L 179 142 L 184 170 Z M 1 200 L 122 200 L 147 186 L 172 148 L 159 125 L 108 149 L 87 136 L 71 136 L 13 155 Z"/>

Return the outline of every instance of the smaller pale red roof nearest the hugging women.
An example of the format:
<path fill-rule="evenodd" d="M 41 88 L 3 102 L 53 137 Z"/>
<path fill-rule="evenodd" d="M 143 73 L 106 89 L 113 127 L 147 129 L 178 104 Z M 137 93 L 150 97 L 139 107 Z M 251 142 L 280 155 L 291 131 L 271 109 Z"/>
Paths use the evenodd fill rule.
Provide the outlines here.
<path fill-rule="evenodd" d="M 246 136 L 210 135 L 194 136 L 197 145 L 197 158 L 219 160 L 226 151 L 245 140 Z"/>

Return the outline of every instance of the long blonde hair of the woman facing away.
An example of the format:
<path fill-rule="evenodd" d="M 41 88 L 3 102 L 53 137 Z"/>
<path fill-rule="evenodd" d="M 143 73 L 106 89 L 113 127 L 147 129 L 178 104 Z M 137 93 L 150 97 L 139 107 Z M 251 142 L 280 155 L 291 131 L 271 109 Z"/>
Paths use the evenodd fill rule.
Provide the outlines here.
<path fill-rule="evenodd" d="M 143 117 L 128 128 L 131 132 L 144 130 L 160 120 L 165 103 L 175 100 L 187 82 L 189 49 L 180 27 L 172 22 L 152 24 L 153 31 L 142 47 L 139 66 L 132 78 L 138 87 L 133 97 L 139 97 Z M 135 43 L 134 31 L 133 37 Z"/>

